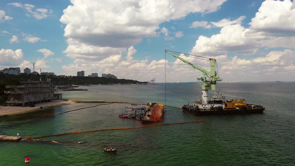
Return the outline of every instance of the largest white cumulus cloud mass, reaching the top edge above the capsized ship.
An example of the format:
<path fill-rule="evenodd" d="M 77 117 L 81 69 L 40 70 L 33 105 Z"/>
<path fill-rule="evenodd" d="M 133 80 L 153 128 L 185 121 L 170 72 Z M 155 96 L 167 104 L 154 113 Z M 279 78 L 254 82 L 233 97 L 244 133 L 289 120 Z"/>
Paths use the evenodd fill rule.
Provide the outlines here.
<path fill-rule="evenodd" d="M 147 59 L 135 60 L 132 57 L 132 45 L 143 37 L 156 37 L 159 33 L 165 40 L 172 39 L 167 28 L 159 27 L 160 23 L 183 18 L 188 13 L 216 11 L 224 1 L 71 0 L 72 4 L 63 10 L 60 21 L 65 24 L 64 36 L 68 44 L 63 52 L 75 60 L 62 69 L 72 74 L 79 69 L 94 72 L 98 69 L 98 72 L 112 71 L 118 76 L 141 77 L 141 80 L 144 74 L 159 74 L 147 67 L 150 64 Z M 178 32 L 176 37 L 181 34 Z M 127 56 L 121 58 L 126 53 Z M 133 69 L 138 67 L 143 68 L 143 73 Z"/>

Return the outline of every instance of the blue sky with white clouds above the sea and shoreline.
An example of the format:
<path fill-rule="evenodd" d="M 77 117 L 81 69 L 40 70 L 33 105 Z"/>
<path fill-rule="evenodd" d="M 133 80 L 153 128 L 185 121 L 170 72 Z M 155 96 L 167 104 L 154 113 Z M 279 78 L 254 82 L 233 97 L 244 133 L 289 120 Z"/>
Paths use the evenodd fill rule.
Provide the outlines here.
<path fill-rule="evenodd" d="M 111 73 L 155 82 L 202 73 L 165 49 L 215 58 L 224 81 L 295 80 L 292 0 L 1 0 L 0 69 Z M 209 61 L 182 56 L 209 70 Z"/>

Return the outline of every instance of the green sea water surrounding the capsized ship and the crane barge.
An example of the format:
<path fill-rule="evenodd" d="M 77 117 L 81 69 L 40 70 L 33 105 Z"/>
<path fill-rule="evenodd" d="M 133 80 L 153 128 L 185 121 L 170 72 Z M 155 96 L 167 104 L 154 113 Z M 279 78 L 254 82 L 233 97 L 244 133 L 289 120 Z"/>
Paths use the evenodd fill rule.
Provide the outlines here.
<path fill-rule="evenodd" d="M 159 102 L 181 107 L 199 99 L 197 83 L 83 86 L 88 91 L 64 92 L 68 99 Z M 43 138 L 47 141 L 0 142 L 0 165 L 294 165 L 295 83 L 224 83 L 220 92 L 261 104 L 263 114 L 199 116 L 205 122 L 113 130 Z M 77 103 L 26 113 L 59 113 L 95 105 Z M 124 104 L 108 104 L 57 116 L 1 121 L 0 135 L 32 137 L 57 133 L 141 126 L 120 119 Z M 14 116 L 12 116 L 14 117 Z M 7 117 L 0 117 L 4 119 Z M 192 121 L 179 109 L 167 108 L 160 123 Z M 84 144 L 77 144 L 85 141 Z M 116 153 L 103 148 L 115 145 Z M 30 163 L 24 157 L 31 158 Z"/>

